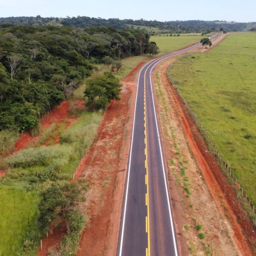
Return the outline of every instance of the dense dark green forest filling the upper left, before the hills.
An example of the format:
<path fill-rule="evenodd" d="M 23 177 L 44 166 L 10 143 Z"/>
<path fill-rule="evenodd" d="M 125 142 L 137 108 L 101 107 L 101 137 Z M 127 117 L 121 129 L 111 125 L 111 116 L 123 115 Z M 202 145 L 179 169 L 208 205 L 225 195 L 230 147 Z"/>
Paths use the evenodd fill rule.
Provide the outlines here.
<path fill-rule="evenodd" d="M 0 131 L 29 130 L 95 63 L 147 53 L 149 35 L 110 27 L 0 26 Z M 108 58 L 105 58 L 108 56 Z"/>

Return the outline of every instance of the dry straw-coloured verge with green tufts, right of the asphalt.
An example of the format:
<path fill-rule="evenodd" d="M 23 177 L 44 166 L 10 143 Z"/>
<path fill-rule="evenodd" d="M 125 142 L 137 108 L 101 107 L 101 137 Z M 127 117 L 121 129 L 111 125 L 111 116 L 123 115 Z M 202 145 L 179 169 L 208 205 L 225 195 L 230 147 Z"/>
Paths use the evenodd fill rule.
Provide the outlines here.
<path fill-rule="evenodd" d="M 181 196 L 181 207 L 183 210 L 182 216 L 186 219 L 186 224 L 183 226 L 185 234 L 188 239 L 188 255 L 215 255 L 214 243 L 209 232 L 209 221 L 205 218 L 211 218 L 210 215 L 197 216 L 199 208 L 198 205 L 202 203 L 202 198 L 197 195 L 197 185 L 195 185 L 195 176 L 197 171 L 191 169 L 190 159 L 185 153 L 182 140 L 180 138 L 180 131 L 177 124 L 173 122 L 171 116 L 172 106 L 170 106 L 168 95 L 165 87 L 162 86 L 158 72 L 155 73 L 154 87 L 156 98 L 160 106 L 160 123 L 164 137 L 171 144 L 169 154 L 167 154 L 168 172 L 172 175 L 179 188 L 179 195 Z M 172 126 L 173 124 L 174 126 Z M 203 195 L 205 197 L 205 195 Z M 205 206 L 205 205 L 204 205 Z M 196 209 L 195 209 L 196 208 Z M 180 214 L 180 212 L 179 212 Z M 197 216 L 200 219 L 196 219 Z M 205 227 L 201 224 L 205 223 Z M 205 234 L 208 232 L 208 236 Z M 218 245 L 219 246 L 219 245 Z"/>

